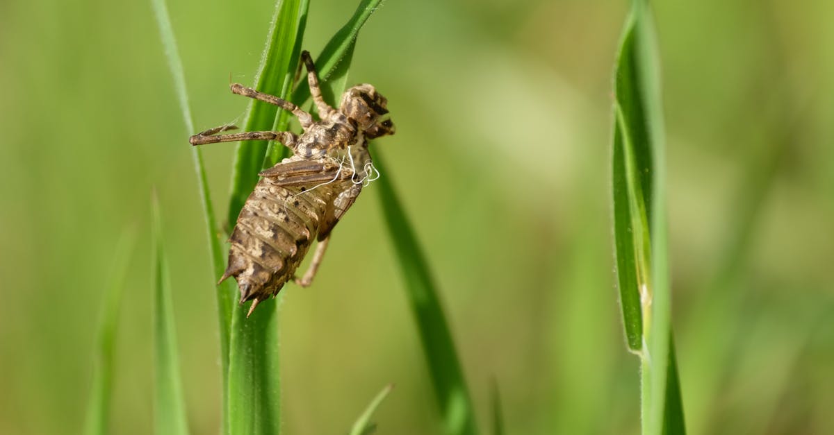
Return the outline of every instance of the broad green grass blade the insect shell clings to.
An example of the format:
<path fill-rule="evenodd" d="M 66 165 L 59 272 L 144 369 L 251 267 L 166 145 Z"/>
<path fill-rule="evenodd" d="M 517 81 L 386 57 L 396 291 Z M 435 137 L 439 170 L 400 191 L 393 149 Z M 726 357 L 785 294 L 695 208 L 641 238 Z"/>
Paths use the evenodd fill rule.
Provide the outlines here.
<path fill-rule="evenodd" d="M 292 85 L 305 26 L 308 1 L 278 2 L 269 29 L 255 87 L 286 97 Z M 278 107 L 253 100 L 245 131 L 269 130 L 280 122 Z M 282 128 L 283 129 L 283 128 Z M 243 142 L 234 162 L 229 222 L 235 222 L 240 209 L 258 181 L 258 173 L 269 158 L 267 143 Z M 279 158 L 281 151 L 274 153 Z M 272 153 L 270 153 L 272 155 Z M 229 280 L 229 282 L 233 282 Z M 234 283 L 234 282 L 233 282 Z M 229 294 L 237 298 L 238 292 Z M 234 302 L 233 302 L 234 303 Z M 229 341 L 228 393 L 224 406 L 226 433 L 275 434 L 280 431 L 280 377 L 278 316 L 275 299 L 264 301 L 250 318 L 243 308 L 235 308 Z"/>

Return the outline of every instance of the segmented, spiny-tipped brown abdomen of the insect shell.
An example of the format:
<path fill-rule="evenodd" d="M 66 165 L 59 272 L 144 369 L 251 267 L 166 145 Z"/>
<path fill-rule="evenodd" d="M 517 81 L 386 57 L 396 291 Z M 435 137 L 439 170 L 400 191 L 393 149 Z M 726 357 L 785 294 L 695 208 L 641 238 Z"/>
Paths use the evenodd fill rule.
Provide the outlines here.
<path fill-rule="evenodd" d="M 305 191 L 278 183 L 261 178 L 229 238 L 224 277 L 237 279 L 241 302 L 274 296 L 293 278 L 332 208 L 330 186 Z"/>

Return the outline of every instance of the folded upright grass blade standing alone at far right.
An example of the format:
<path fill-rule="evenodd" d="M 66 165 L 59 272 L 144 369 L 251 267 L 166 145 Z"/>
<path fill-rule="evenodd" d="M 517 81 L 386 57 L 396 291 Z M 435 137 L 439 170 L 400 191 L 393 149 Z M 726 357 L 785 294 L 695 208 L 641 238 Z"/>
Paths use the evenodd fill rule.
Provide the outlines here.
<path fill-rule="evenodd" d="M 680 384 L 671 349 L 665 149 L 651 20 L 645 2 L 632 3 L 615 72 L 612 190 L 616 261 L 626 338 L 629 348 L 641 356 L 642 433 L 684 434 Z"/>

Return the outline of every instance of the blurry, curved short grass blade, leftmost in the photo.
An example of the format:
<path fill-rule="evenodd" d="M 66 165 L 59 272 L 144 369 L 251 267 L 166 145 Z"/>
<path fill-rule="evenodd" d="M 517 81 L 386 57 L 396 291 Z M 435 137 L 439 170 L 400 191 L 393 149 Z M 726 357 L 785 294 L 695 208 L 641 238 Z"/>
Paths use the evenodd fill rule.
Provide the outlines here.
<path fill-rule="evenodd" d="M 134 231 L 125 231 L 116 245 L 113 269 L 106 293 L 103 297 L 102 316 L 98 323 L 96 337 L 96 363 L 93 371 L 93 387 L 84 422 L 85 435 L 110 433 L 110 397 L 113 393 L 113 358 L 115 358 L 116 331 L 118 329 L 119 305 L 125 277 L 128 274 L 128 260 L 136 242 Z"/>

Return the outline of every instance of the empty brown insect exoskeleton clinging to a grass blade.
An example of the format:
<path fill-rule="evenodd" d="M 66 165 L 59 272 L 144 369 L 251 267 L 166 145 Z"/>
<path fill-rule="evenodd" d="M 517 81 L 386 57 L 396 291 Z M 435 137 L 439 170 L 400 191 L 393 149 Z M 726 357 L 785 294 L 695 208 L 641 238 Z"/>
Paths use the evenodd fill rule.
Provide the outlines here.
<path fill-rule="evenodd" d="M 240 303 L 251 300 L 249 314 L 260 301 L 278 294 L 293 278 L 307 287 L 313 281 L 336 223 L 359 196 L 362 187 L 379 178 L 371 163 L 367 139 L 394 134 L 386 116 L 388 100 L 373 86 L 359 84 L 342 95 L 339 110 L 321 96 L 319 77 L 309 52 L 302 52 L 310 94 L 320 121 L 292 102 L 238 83 L 232 92 L 272 103 L 299 118 L 304 133 L 247 132 L 217 135 L 236 127 L 211 128 L 191 137 L 192 145 L 250 140 L 274 140 L 293 156 L 259 173 L 262 177 L 244 203 L 229 242 L 229 266 L 220 282 L 234 277 Z M 319 241 L 304 278 L 295 270 L 313 240 Z M 249 315 L 247 314 L 247 316 Z"/>

